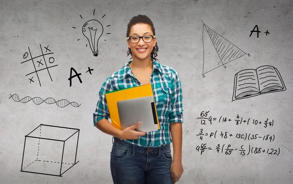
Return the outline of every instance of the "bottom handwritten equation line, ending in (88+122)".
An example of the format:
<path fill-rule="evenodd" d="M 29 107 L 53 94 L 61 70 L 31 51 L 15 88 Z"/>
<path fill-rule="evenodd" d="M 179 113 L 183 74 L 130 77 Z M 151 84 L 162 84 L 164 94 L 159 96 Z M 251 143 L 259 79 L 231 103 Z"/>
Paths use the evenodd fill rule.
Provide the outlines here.
<path fill-rule="evenodd" d="M 248 146 L 244 146 L 243 144 L 238 147 L 232 147 L 231 144 L 228 145 L 221 145 L 217 144 L 214 148 L 211 148 L 207 145 L 207 143 L 202 143 L 201 145 L 196 146 L 196 151 L 200 153 L 201 155 L 204 152 L 207 152 L 209 150 L 215 150 L 216 153 L 223 153 L 225 155 L 231 155 L 234 152 L 238 152 L 241 156 L 246 156 L 250 154 L 267 154 L 267 155 L 276 155 L 278 156 L 280 154 L 280 147 L 278 148 L 264 148 L 264 147 L 257 147 L 257 146 L 252 146 L 249 144 Z"/>

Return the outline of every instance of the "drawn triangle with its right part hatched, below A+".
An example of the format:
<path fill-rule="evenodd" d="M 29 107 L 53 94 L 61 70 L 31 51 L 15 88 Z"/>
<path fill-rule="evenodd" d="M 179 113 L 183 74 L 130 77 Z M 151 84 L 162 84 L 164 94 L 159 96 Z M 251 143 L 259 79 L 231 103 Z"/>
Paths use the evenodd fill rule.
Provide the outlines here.
<path fill-rule="evenodd" d="M 207 38 L 209 37 L 209 38 Z M 241 58 L 244 55 L 250 56 L 250 54 L 245 53 L 240 48 L 238 48 L 236 45 L 210 29 L 205 23 L 203 23 L 203 78 L 205 78 L 205 74 L 218 68 L 221 66 L 225 66 L 228 62 L 234 61 L 236 59 Z M 211 44 L 210 44 L 210 40 Z M 205 43 L 207 44 L 207 47 L 209 47 L 209 52 L 207 52 L 209 55 L 214 54 L 216 57 L 213 59 L 210 59 L 207 62 L 207 59 L 205 58 Z M 211 48 L 213 47 L 213 48 Z M 215 49 L 215 50 L 214 50 Z"/>

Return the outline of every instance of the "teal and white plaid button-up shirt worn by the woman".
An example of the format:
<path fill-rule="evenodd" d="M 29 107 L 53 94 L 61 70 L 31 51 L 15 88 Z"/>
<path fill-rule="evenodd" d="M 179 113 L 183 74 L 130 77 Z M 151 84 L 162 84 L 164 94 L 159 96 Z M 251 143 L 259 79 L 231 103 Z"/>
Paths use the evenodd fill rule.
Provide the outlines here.
<path fill-rule="evenodd" d="M 153 89 L 160 129 L 147 132 L 137 140 L 125 140 L 128 143 L 143 147 L 157 147 L 171 143 L 169 123 L 183 123 L 182 88 L 178 73 L 171 67 L 153 61 L 153 73 L 150 83 Z M 109 110 L 105 93 L 129 87 L 141 85 L 134 77 L 127 62 L 120 70 L 110 75 L 103 83 L 99 92 L 99 100 L 95 113 L 93 113 L 94 125 L 102 119 L 109 119 Z"/>

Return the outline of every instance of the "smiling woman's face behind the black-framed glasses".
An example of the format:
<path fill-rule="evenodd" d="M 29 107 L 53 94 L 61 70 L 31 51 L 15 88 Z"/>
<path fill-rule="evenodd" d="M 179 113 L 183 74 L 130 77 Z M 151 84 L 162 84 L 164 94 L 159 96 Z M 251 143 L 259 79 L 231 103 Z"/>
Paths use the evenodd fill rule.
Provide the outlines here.
<path fill-rule="evenodd" d="M 153 35 L 150 25 L 146 23 L 137 23 L 130 28 L 130 36 L 146 36 Z M 156 38 L 153 38 L 151 42 L 146 43 L 141 38 L 137 43 L 131 43 L 127 40 L 128 47 L 131 49 L 133 60 L 144 60 L 149 58 L 153 47 L 156 45 Z"/>

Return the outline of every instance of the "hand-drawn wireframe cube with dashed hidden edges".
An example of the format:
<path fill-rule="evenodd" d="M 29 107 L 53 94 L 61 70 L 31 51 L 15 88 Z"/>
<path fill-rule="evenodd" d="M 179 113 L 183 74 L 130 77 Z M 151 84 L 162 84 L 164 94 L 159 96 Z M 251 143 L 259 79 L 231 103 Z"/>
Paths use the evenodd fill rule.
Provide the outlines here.
<path fill-rule="evenodd" d="M 40 124 L 25 136 L 22 172 L 62 176 L 76 162 L 79 129 Z"/>

